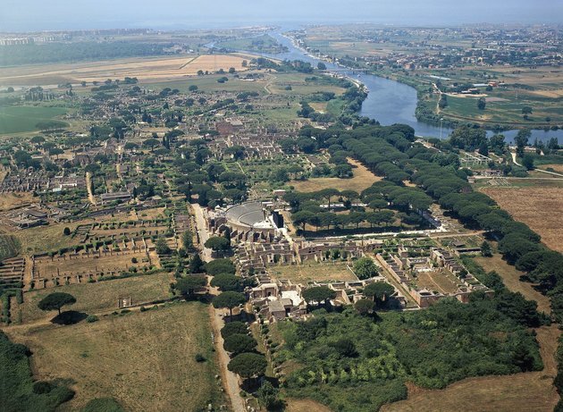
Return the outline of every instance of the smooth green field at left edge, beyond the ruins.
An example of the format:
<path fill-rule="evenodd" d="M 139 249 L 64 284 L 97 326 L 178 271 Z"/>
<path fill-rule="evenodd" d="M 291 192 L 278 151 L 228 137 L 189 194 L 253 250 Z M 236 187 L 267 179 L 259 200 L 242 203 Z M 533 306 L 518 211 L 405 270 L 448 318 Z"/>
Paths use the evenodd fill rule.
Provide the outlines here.
<path fill-rule="evenodd" d="M 53 120 L 66 114 L 63 107 L 11 105 L 0 107 L 0 134 L 38 130 L 38 122 Z"/>

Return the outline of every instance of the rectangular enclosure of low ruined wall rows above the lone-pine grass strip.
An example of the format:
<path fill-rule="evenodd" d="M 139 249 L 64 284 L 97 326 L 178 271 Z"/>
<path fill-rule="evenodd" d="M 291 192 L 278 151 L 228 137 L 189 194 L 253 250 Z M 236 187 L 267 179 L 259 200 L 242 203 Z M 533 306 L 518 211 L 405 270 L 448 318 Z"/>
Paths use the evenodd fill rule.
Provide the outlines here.
<path fill-rule="evenodd" d="M 161 267 L 158 255 L 150 247 L 143 244 L 133 247 L 132 242 L 126 243 L 127 248 L 116 250 L 89 250 L 88 254 L 68 252 L 62 256 L 38 256 L 33 264 L 33 282 L 37 289 L 53 287 L 65 283 L 80 283 L 90 280 L 97 281 L 104 276 L 117 276 L 135 266 L 138 271 L 144 267 Z M 135 262 L 135 263 L 134 263 Z"/>

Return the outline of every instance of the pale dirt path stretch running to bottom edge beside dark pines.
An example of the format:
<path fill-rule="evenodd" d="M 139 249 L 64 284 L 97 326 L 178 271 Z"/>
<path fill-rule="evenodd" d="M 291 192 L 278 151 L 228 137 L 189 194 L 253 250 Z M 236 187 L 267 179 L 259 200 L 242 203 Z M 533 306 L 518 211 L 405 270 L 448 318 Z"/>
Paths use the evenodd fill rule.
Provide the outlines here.
<path fill-rule="evenodd" d="M 223 381 L 223 388 L 227 392 L 229 399 L 231 399 L 231 407 L 234 412 L 244 412 L 244 400 L 239 395 L 239 378 L 227 369 L 230 357 L 223 349 L 223 337 L 221 336 L 221 329 L 223 328 L 223 318 L 221 317 L 222 311 L 214 309 L 209 306 L 209 317 L 211 318 L 211 325 L 214 334 L 214 344 L 217 357 L 219 358 L 219 367 L 221 369 L 221 380 Z"/>

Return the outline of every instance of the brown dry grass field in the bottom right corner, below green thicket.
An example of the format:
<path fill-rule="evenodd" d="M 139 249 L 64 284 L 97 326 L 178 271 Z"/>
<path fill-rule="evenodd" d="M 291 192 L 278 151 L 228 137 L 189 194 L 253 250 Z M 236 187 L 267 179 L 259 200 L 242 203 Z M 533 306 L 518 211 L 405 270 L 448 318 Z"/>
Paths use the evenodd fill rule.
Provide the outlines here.
<path fill-rule="evenodd" d="M 536 329 L 544 369 L 540 372 L 483 376 L 453 383 L 433 391 L 409 385 L 408 399 L 385 405 L 384 412 L 434 412 L 475 410 L 482 412 L 548 412 L 559 400 L 552 386 L 557 373 L 554 353 L 559 339 L 558 326 Z"/>

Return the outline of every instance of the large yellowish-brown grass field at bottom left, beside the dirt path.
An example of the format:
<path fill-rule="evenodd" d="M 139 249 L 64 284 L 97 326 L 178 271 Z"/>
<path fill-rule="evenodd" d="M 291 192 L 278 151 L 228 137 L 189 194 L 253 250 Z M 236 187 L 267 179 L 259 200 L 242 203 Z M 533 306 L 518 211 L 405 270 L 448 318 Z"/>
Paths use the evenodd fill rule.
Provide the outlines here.
<path fill-rule="evenodd" d="M 126 410 L 203 410 L 224 404 L 211 344 L 208 306 L 190 302 L 147 312 L 108 315 L 93 324 L 36 324 L 6 329 L 35 354 L 38 380 L 71 379 L 74 399 L 112 397 Z M 206 362 L 196 362 L 197 353 Z"/>

